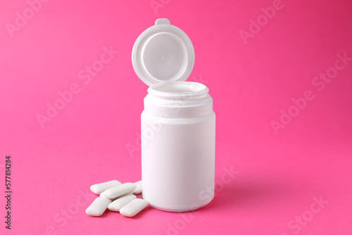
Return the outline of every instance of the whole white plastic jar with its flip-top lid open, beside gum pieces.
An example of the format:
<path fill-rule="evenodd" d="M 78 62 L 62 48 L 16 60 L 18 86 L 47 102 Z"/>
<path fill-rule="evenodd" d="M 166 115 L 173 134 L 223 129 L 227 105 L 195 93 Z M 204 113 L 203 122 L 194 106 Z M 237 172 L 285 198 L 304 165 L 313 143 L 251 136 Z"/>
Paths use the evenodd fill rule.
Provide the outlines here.
<path fill-rule="evenodd" d="M 170 212 L 202 208 L 214 196 L 215 113 L 208 87 L 184 82 L 194 65 L 193 45 L 158 19 L 134 44 L 132 63 L 151 86 L 141 122 L 143 198 Z"/>

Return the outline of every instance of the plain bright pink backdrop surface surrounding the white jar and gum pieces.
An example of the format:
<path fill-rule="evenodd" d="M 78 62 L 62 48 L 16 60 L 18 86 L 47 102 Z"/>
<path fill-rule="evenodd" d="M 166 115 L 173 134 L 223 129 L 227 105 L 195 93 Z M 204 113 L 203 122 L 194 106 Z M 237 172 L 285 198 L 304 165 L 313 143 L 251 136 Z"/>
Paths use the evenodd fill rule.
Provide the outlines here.
<path fill-rule="evenodd" d="M 273 4 L 279 10 L 268 20 L 260 8 Z M 352 233 L 352 61 L 337 62 L 337 75 L 331 69 L 338 53 L 352 57 L 351 1 L 52 0 L 35 6 L 37 12 L 25 0 L 0 3 L 1 234 L 8 232 L 7 154 L 11 234 Z M 17 20 L 17 27 L 16 12 L 23 11 L 29 19 Z M 196 53 L 189 80 L 206 84 L 214 99 L 215 199 L 184 214 L 149 208 L 134 218 L 89 217 L 84 211 L 96 197 L 86 193 L 91 184 L 141 179 L 136 141 L 147 86 L 134 73 L 131 51 L 157 18 L 189 35 Z M 262 26 L 250 29 L 257 18 Z M 251 37 L 242 39 L 244 31 Z M 88 80 L 84 70 L 101 65 L 104 46 L 119 53 Z M 327 71 L 331 82 L 313 85 Z M 46 103 L 54 105 L 58 92 L 71 86 L 77 94 L 42 128 L 37 115 L 46 115 Z M 299 99 L 298 110 L 291 99 L 307 90 L 314 99 L 306 106 Z M 296 116 L 275 133 L 272 121 L 280 122 L 281 110 Z M 233 179 L 225 174 L 231 169 Z"/>

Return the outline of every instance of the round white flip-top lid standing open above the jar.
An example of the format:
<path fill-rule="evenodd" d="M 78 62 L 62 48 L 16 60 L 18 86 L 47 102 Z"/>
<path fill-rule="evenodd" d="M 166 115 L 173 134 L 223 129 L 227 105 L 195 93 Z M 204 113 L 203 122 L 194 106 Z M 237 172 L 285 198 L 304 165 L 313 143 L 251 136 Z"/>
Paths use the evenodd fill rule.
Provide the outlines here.
<path fill-rule="evenodd" d="M 132 65 L 148 86 L 166 81 L 185 81 L 194 65 L 191 39 L 168 19 L 158 19 L 137 38 Z"/>

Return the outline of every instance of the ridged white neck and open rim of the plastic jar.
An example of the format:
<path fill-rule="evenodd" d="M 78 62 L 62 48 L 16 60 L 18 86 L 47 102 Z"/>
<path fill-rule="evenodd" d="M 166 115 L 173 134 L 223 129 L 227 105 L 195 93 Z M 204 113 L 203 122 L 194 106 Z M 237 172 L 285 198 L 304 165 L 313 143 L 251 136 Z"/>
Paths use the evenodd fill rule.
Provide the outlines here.
<path fill-rule="evenodd" d="M 198 82 L 161 82 L 149 87 L 144 111 L 157 117 L 198 118 L 213 112 L 208 87 Z"/>

